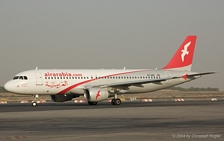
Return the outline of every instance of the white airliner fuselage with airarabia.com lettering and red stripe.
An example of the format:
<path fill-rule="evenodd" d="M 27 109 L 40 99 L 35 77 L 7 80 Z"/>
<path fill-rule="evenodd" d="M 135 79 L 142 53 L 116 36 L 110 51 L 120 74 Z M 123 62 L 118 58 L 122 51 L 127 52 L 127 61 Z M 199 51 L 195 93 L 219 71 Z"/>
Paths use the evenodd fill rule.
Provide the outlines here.
<path fill-rule="evenodd" d="M 177 70 L 130 70 L 130 69 L 39 69 L 24 71 L 5 84 L 5 88 L 19 94 L 84 94 L 91 86 L 124 84 L 125 82 L 171 78 L 161 82 L 122 85 L 118 93 L 144 93 L 182 84 L 198 77 L 182 78 L 189 71 Z M 18 77 L 17 77 L 18 76 Z M 25 79 L 26 77 L 26 79 Z"/>

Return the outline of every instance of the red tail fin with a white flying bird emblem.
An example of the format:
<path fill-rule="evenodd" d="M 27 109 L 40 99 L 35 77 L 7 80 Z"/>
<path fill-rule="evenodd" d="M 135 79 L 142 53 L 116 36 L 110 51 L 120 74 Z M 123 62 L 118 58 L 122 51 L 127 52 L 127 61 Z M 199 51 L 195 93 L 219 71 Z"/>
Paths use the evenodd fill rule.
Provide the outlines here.
<path fill-rule="evenodd" d="M 187 36 L 173 58 L 163 69 L 191 70 L 196 36 Z"/>

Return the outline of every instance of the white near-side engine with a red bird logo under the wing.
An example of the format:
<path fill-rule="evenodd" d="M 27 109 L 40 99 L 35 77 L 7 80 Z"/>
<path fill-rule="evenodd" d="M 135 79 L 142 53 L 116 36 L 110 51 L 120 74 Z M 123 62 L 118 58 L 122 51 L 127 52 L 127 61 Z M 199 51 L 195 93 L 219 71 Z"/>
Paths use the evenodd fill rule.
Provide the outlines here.
<path fill-rule="evenodd" d="M 110 93 L 103 88 L 88 88 L 85 89 L 84 96 L 89 102 L 99 102 L 106 100 Z"/>

